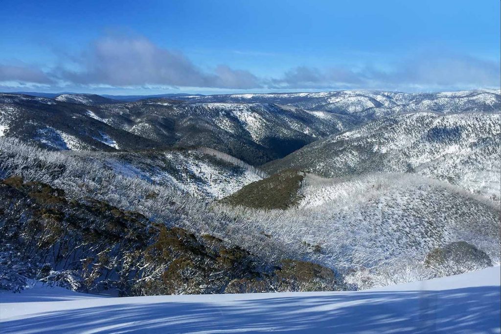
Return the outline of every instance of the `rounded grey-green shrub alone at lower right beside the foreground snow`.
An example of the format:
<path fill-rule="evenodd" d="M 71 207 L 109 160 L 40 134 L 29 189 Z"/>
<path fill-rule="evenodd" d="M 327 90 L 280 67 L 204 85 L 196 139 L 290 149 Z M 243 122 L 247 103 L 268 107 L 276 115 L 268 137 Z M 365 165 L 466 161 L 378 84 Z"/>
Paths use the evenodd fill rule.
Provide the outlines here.
<path fill-rule="evenodd" d="M 484 251 L 457 241 L 430 251 L 424 259 L 424 266 L 438 276 L 449 276 L 490 267 L 492 261 Z"/>

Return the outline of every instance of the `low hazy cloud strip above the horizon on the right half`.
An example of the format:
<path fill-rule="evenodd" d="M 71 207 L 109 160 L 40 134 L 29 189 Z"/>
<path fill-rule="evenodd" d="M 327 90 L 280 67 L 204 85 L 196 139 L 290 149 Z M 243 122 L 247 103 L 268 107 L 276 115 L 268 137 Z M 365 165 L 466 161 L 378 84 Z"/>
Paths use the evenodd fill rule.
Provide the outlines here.
<path fill-rule="evenodd" d="M 498 62 L 460 55 L 422 55 L 385 66 L 358 69 L 319 69 L 299 66 L 269 80 L 275 89 L 371 88 L 371 89 L 460 89 L 499 87 Z"/>

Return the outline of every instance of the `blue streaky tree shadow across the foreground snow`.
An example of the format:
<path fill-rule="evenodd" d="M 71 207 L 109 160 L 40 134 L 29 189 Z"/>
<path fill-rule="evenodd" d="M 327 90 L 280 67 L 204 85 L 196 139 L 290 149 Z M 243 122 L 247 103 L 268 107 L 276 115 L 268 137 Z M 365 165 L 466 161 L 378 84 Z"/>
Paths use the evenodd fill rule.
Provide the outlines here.
<path fill-rule="evenodd" d="M 64 310 L 0 323 L 2 332 L 499 332 L 499 286 L 346 292 L 256 300 L 152 302 Z"/>

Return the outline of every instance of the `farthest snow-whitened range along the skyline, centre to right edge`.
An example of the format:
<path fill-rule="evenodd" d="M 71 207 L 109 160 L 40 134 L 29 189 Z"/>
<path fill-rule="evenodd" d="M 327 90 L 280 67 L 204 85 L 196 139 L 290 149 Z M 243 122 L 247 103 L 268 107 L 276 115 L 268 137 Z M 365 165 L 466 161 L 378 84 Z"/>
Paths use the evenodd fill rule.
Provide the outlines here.
<path fill-rule="evenodd" d="M 184 97 L 199 102 L 286 104 L 307 110 L 322 110 L 363 118 L 430 110 L 440 113 L 496 112 L 501 109 L 499 90 L 439 93 L 401 93 L 347 90 L 320 93 L 229 94 Z"/>

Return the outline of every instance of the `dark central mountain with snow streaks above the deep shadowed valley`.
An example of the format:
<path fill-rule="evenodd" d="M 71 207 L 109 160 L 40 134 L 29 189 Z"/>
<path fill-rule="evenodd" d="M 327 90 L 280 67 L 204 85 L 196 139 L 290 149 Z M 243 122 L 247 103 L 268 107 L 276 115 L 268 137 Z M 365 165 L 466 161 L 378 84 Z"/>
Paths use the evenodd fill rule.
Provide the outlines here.
<path fill-rule="evenodd" d="M 261 164 L 351 126 L 348 116 L 312 114 L 271 103 L 144 100 L 101 106 L 107 123 L 175 146 L 205 146 Z"/>

